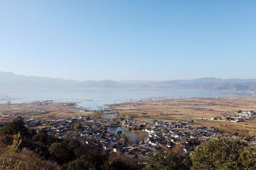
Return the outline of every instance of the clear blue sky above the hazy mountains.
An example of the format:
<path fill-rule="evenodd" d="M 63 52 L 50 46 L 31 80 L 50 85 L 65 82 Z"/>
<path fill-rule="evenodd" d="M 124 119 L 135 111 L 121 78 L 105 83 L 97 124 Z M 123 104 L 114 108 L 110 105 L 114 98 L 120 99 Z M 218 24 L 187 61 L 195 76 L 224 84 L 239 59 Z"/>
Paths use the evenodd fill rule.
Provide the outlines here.
<path fill-rule="evenodd" d="M 0 1 L 0 71 L 256 78 L 256 1 Z"/>

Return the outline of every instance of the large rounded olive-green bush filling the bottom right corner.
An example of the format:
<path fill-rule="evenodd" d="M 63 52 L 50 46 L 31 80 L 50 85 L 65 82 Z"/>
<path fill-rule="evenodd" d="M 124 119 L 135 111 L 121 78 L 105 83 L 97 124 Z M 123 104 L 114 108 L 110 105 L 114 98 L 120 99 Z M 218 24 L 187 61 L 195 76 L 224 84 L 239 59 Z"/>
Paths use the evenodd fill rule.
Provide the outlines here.
<path fill-rule="evenodd" d="M 191 169 L 256 169 L 256 148 L 248 143 L 219 137 L 201 143 L 191 155 Z"/>

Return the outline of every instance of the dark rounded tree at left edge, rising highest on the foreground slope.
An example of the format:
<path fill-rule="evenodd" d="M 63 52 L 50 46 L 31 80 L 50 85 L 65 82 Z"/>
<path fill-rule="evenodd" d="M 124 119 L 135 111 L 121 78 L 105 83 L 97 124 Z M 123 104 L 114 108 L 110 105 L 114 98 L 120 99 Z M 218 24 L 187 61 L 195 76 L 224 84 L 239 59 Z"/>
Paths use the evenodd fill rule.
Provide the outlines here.
<path fill-rule="evenodd" d="M 5 123 L 1 129 L 4 134 L 19 134 L 25 136 L 28 134 L 28 129 L 24 126 L 22 120 L 13 120 L 11 123 Z"/>

